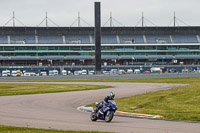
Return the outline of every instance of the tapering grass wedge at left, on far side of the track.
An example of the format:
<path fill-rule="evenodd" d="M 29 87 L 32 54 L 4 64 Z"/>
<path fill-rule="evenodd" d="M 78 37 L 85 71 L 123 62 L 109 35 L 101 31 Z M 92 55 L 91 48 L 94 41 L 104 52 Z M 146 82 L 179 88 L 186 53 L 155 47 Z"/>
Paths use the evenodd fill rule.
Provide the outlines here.
<path fill-rule="evenodd" d="M 83 91 L 110 88 L 103 85 L 82 85 L 82 84 L 17 84 L 0 83 L 0 96 L 42 94 L 55 92 Z"/>

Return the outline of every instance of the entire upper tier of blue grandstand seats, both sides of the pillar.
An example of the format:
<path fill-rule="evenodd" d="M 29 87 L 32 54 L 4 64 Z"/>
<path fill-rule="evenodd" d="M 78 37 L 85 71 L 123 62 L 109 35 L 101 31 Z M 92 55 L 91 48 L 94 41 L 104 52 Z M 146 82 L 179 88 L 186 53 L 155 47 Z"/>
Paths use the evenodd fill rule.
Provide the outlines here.
<path fill-rule="evenodd" d="M 142 44 L 145 43 L 143 35 L 131 35 L 131 34 L 120 34 L 119 40 L 117 40 L 116 35 L 102 35 L 102 44 Z M 145 35 L 146 43 L 172 43 L 170 35 Z M 172 35 L 174 43 L 198 43 L 196 35 Z M 90 44 L 94 43 L 94 35 L 92 35 L 92 40 L 90 40 L 89 35 L 65 35 L 65 41 L 63 42 L 62 35 L 38 35 L 39 44 Z M 0 35 L 0 43 L 7 44 L 8 36 Z M 35 35 L 10 35 L 11 44 L 35 44 Z"/>

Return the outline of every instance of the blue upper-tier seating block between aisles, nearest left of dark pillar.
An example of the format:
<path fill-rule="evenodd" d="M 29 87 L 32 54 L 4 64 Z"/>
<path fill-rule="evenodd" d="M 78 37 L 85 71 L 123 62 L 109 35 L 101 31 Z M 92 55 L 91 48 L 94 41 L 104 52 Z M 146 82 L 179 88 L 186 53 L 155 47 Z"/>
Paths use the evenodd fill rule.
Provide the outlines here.
<path fill-rule="evenodd" d="M 65 40 L 69 44 L 90 44 L 89 35 L 66 35 Z"/>

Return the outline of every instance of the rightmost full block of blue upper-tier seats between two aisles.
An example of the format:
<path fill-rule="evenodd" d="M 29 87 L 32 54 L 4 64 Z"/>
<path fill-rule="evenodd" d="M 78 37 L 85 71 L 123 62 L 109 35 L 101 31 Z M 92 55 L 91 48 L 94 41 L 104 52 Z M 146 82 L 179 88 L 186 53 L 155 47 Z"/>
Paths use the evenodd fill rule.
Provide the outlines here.
<path fill-rule="evenodd" d="M 196 35 L 172 35 L 174 43 L 197 43 Z"/>

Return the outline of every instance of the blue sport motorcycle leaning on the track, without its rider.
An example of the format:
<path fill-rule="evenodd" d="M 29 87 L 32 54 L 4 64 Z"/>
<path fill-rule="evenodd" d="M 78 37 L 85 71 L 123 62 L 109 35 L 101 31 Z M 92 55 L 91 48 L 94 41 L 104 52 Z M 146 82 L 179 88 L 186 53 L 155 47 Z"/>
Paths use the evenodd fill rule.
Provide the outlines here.
<path fill-rule="evenodd" d="M 96 107 L 99 108 L 100 104 L 102 103 L 96 103 Z M 111 122 L 116 110 L 117 110 L 117 105 L 115 101 L 109 100 L 108 104 L 103 104 L 102 108 L 93 110 L 90 115 L 90 119 L 92 121 L 100 119 L 100 120 L 105 120 L 106 122 Z"/>

